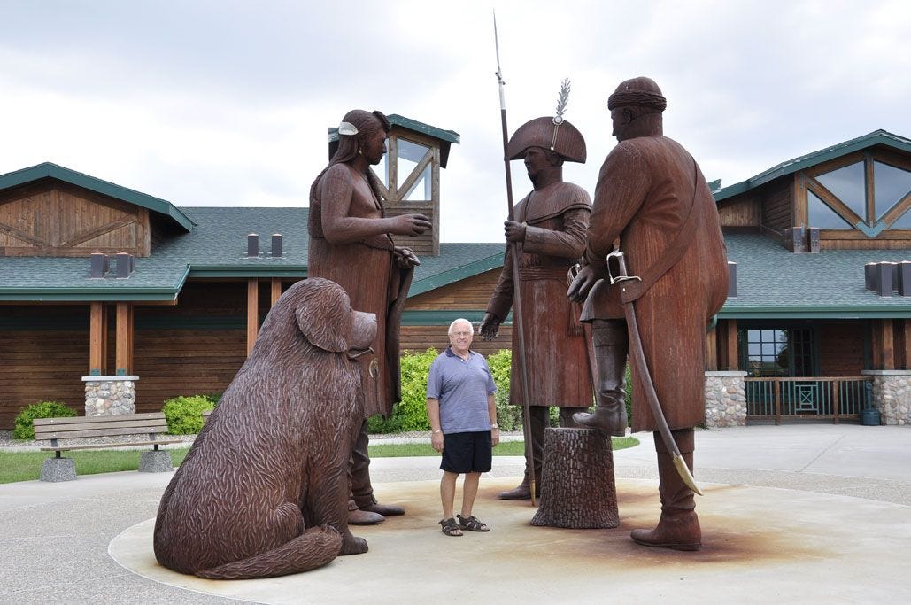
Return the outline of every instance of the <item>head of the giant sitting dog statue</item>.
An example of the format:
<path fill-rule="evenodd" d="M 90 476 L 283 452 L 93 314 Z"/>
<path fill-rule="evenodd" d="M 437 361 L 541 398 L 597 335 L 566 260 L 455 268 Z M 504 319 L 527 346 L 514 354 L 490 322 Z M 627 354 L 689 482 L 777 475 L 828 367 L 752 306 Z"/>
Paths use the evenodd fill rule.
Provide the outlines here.
<path fill-rule="evenodd" d="M 333 353 L 366 350 L 376 337 L 376 315 L 351 308 L 342 286 L 320 277 L 301 284 L 294 315 L 310 344 Z"/>

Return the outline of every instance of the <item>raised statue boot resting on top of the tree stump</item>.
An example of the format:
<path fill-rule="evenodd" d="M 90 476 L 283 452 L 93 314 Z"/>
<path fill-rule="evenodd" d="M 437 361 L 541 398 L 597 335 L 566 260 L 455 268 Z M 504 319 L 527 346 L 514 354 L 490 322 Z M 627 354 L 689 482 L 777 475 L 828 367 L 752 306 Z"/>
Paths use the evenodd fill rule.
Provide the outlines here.
<path fill-rule="evenodd" d="M 598 364 L 598 393 L 595 411 L 573 415 L 579 426 L 599 428 L 612 436 L 626 435 L 627 331 L 622 320 L 596 320 L 592 340 Z"/>

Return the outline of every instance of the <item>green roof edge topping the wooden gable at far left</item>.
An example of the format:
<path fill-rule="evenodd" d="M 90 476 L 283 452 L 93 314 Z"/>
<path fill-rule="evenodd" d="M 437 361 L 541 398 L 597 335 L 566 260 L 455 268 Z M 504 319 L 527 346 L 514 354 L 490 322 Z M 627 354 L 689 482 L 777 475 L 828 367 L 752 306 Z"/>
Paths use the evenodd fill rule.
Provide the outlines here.
<path fill-rule="evenodd" d="M 64 168 L 63 166 L 57 166 L 51 162 L 45 162 L 43 164 L 38 164 L 37 166 L 32 166 L 31 168 L 15 170 L 14 172 L 7 172 L 4 175 L 0 175 L 0 191 L 12 189 L 40 179 L 60 180 L 83 189 L 107 195 L 116 200 L 141 206 L 142 208 L 169 217 L 169 219 L 179 225 L 183 231 L 193 231 L 193 221 L 168 200 L 161 200 L 160 198 L 155 198 L 136 190 L 127 189 L 126 187 L 107 182 L 107 180 L 96 179 L 95 177 L 90 177 L 82 172 Z"/>

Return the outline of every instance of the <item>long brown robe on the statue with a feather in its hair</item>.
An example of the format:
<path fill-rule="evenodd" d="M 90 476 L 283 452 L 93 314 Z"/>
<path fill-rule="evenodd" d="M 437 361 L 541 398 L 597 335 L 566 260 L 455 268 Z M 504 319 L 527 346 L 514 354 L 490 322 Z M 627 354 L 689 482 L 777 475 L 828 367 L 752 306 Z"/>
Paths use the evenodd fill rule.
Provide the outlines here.
<path fill-rule="evenodd" d="M 384 218 L 383 202 L 376 192 L 373 173 L 370 177 L 374 190 L 373 203 L 358 203 L 358 198 L 353 197 L 349 216 Z M 393 404 L 402 398 L 399 328 L 414 272 L 395 264 L 393 239 L 388 234 L 353 243 L 333 244 L 327 241 L 322 234 L 320 190 L 320 187 L 314 187 L 310 199 L 307 276 L 324 277 L 338 283 L 351 298 L 354 310 L 376 315 L 376 338 L 371 345 L 374 354 L 365 354 L 360 358 L 363 411 L 367 416 L 388 416 L 392 414 Z"/>

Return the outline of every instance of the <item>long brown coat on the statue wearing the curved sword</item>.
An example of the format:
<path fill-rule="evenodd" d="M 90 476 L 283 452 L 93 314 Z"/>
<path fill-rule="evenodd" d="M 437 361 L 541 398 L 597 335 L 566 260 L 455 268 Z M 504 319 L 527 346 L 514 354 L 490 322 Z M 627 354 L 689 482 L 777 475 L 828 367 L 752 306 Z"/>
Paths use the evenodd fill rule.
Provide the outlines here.
<path fill-rule="evenodd" d="M 700 215 L 689 248 L 635 302 L 646 363 L 671 430 L 704 420 L 706 325 L 728 290 L 718 210 L 686 149 L 666 137 L 620 142 L 601 167 L 586 246 L 589 263 L 603 267 L 619 237 L 630 275 L 639 275 L 660 259 L 691 200 Z M 599 282 L 585 302 L 583 321 L 621 317 L 617 287 Z M 633 430 L 655 430 L 635 366 L 633 383 Z"/>

